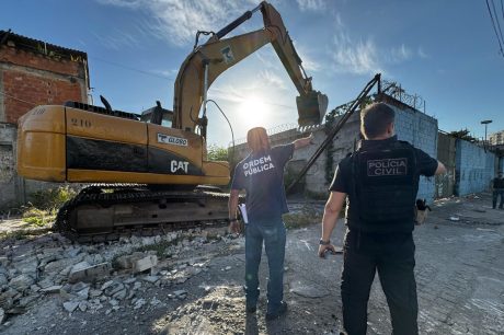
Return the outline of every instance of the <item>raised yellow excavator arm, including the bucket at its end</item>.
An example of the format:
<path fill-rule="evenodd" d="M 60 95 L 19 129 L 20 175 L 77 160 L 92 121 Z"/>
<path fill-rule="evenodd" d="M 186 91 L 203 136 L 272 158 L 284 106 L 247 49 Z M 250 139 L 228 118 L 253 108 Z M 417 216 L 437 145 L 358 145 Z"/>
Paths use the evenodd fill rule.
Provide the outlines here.
<path fill-rule="evenodd" d="M 264 28 L 222 38 L 259 10 L 263 14 Z M 199 112 L 202 105 L 205 109 L 208 88 L 220 73 L 270 43 L 299 92 L 298 124 L 307 126 L 320 123 L 328 107 L 328 97 L 313 91 L 311 78 L 305 73 L 280 14 L 273 5 L 263 1 L 215 33 L 205 44 L 195 46 L 187 56 L 175 81 L 173 127 L 185 131 L 195 131 L 196 127 L 201 127 L 202 136 L 206 137 L 207 119 L 205 112 L 202 117 Z"/>

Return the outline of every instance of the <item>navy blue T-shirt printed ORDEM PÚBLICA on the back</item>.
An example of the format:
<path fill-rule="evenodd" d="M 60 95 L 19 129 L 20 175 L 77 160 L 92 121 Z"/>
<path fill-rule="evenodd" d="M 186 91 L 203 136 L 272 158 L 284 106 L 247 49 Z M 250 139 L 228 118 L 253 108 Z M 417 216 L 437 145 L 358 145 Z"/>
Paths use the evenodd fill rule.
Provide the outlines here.
<path fill-rule="evenodd" d="M 245 189 L 249 222 L 270 221 L 288 212 L 284 189 L 284 168 L 293 158 L 294 145 L 251 153 L 237 164 L 232 189 Z"/>

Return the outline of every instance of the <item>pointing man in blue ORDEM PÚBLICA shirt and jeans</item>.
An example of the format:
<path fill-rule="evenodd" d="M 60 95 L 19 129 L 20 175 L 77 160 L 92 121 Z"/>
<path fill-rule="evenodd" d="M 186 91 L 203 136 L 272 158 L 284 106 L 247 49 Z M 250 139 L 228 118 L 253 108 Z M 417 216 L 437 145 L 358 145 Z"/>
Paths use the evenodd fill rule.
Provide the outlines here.
<path fill-rule="evenodd" d="M 284 298 L 284 257 L 286 232 L 282 215 L 288 212 L 284 189 L 284 168 L 294 150 L 311 143 L 312 136 L 286 146 L 271 148 L 266 129 L 252 128 L 247 134 L 251 153 L 237 164 L 229 197 L 230 230 L 239 232 L 238 196 L 247 192 L 245 296 L 247 312 L 254 313 L 259 299 L 259 265 L 264 247 L 270 267 L 266 320 L 287 311 Z"/>

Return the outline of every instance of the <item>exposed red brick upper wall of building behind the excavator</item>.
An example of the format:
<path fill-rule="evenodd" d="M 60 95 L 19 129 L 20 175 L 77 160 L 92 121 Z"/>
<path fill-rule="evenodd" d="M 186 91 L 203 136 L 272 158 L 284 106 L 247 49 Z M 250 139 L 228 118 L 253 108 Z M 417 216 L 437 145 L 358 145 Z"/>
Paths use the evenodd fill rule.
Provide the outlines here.
<path fill-rule="evenodd" d="M 0 63 L 3 63 L 3 115 L 7 123 L 18 119 L 36 105 L 64 104 L 82 101 L 87 96 L 85 63 L 60 59 L 37 53 L 0 47 Z M 1 106 L 0 106 L 1 107 Z M 0 119 L 2 120 L 2 119 Z"/>

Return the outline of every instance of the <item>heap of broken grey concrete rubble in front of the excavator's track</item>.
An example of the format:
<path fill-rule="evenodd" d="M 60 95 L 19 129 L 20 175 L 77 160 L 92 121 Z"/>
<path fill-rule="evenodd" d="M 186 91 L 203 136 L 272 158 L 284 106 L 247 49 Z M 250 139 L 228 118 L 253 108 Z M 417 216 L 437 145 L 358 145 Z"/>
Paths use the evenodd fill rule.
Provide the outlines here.
<path fill-rule="evenodd" d="M 57 294 L 65 311 L 140 309 L 162 304 L 142 298 L 149 286 L 171 287 L 208 270 L 208 259 L 180 259 L 204 244 L 228 242 L 226 229 L 190 230 L 156 236 L 122 238 L 101 244 L 73 244 L 53 233 L 0 244 L 0 324 L 39 299 Z M 170 299 L 183 300 L 174 289 Z"/>

